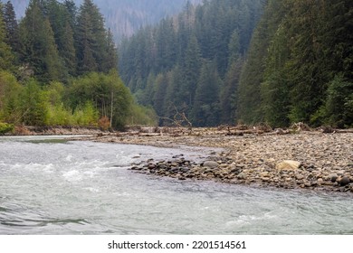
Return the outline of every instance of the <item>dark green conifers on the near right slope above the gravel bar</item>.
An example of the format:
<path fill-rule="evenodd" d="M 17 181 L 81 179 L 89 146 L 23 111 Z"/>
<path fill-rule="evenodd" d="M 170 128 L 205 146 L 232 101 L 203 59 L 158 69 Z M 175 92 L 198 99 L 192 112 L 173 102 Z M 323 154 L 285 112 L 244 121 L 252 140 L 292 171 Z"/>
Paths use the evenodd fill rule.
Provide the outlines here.
<path fill-rule="evenodd" d="M 353 126 L 353 2 L 269 0 L 253 33 L 237 118 Z"/>

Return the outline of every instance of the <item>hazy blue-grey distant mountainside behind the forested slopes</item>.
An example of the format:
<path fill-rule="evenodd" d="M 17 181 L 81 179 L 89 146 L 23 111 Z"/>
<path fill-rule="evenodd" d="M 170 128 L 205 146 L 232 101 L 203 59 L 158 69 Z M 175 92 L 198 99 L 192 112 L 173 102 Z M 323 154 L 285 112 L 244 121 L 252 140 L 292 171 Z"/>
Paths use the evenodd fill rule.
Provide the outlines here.
<path fill-rule="evenodd" d="M 30 0 L 11 1 L 17 17 L 21 18 Z M 82 0 L 73 2 L 79 7 Z M 186 5 L 187 0 L 93 0 L 93 2 L 100 7 L 107 27 L 110 27 L 119 42 L 122 37 L 131 36 L 141 26 L 157 23 L 167 15 L 177 14 Z M 198 4 L 202 0 L 189 0 L 189 2 Z"/>

